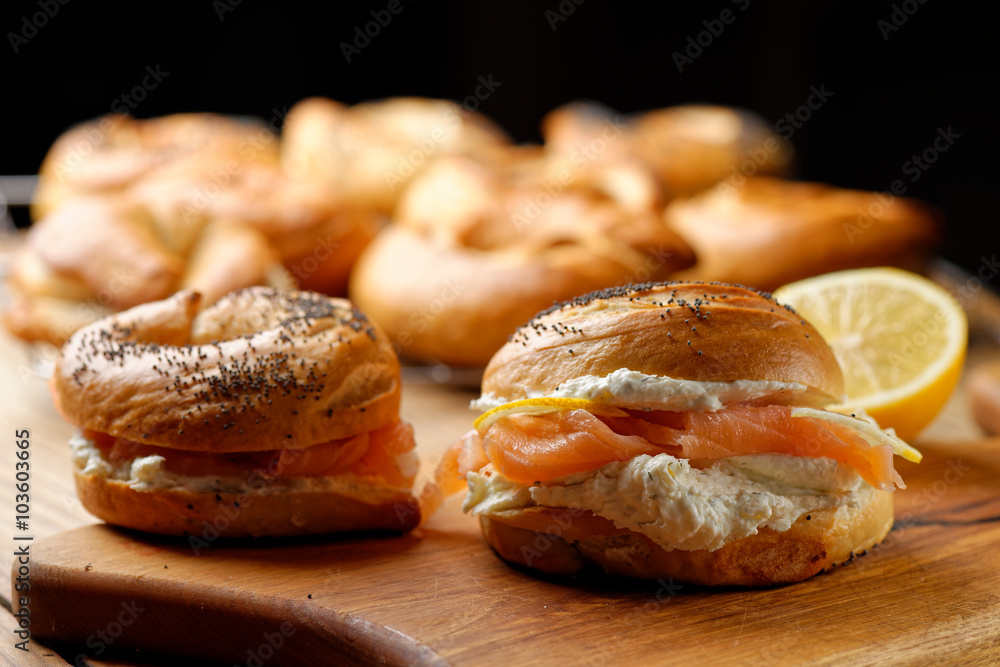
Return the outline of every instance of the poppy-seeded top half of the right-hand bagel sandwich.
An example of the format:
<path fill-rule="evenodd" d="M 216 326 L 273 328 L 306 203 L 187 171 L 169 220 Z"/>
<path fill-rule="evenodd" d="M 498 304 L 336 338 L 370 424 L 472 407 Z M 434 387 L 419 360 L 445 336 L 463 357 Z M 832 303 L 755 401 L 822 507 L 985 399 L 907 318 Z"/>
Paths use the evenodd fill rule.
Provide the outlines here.
<path fill-rule="evenodd" d="M 621 368 L 703 382 L 798 382 L 827 402 L 844 392 L 833 352 L 794 311 L 769 294 L 697 282 L 626 286 L 553 306 L 496 353 L 482 390 L 510 401 Z"/>

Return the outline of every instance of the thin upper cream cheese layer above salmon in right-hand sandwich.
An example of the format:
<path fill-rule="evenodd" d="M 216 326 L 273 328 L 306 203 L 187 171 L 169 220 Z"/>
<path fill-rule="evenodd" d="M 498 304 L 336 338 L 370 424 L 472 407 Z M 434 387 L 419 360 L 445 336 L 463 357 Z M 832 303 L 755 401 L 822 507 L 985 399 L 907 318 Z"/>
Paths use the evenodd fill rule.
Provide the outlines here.
<path fill-rule="evenodd" d="M 734 380 L 731 382 L 696 382 L 662 375 L 647 375 L 620 368 L 605 376 L 584 375 L 563 382 L 555 391 L 529 392 L 527 398 L 579 398 L 619 407 L 656 408 L 685 412 L 715 411 L 726 403 L 768 398 L 771 403 L 786 403 L 795 397 L 799 405 L 809 405 L 809 388 L 798 382 L 777 380 Z M 483 394 L 472 401 L 473 410 L 487 411 L 510 399 Z"/>

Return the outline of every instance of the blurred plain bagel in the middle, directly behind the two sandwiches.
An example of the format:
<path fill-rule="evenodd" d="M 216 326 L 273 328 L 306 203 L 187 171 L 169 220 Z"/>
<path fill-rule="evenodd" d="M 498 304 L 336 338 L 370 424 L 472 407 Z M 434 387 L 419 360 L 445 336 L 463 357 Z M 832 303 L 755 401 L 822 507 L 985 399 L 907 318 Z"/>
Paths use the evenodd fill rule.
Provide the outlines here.
<path fill-rule="evenodd" d="M 365 250 L 351 298 L 421 361 L 483 366 L 517 326 L 581 290 L 659 280 L 694 262 L 655 208 L 507 161 L 442 158 L 416 177 Z M 600 165 L 591 167 L 596 182 Z M 624 187 L 632 193 L 638 187 Z M 638 210 L 637 210 L 638 209 Z"/>

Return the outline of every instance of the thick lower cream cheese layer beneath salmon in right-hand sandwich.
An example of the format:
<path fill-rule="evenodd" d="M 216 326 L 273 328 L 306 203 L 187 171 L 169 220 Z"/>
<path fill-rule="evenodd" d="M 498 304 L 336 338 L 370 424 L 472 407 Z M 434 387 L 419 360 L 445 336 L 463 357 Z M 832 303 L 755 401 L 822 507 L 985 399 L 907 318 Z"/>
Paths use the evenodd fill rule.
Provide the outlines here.
<path fill-rule="evenodd" d="M 662 548 L 714 551 L 764 527 L 788 530 L 809 512 L 866 503 L 878 491 L 854 468 L 825 457 L 756 454 L 691 467 L 669 454 L 523 484 L 468 474 L 463 510 L 496 514 L 533 505 L 590 510 Z"/>

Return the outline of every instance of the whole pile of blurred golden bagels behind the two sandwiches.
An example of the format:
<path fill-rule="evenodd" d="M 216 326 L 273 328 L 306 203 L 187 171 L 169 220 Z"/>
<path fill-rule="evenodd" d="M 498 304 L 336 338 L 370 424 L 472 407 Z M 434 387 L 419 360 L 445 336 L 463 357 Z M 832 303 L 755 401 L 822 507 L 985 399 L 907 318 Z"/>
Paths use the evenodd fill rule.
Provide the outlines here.
<path fill-rule="evenodd" d="M 61 345 L 181 289 L 208 305 L 300 288 L 349 295 L 405 358 L 483 367 L 519 324 L 583 292 L 913 268 L 940 226 L 912 200 L 786 180 L 791 145 L 742 110 L 577 102 L 542 134 L 515 145 L 482 114 L 421 98 L 310 98 L 270 124 L 84 123 L 40 169 L 4 321 Z"/>

